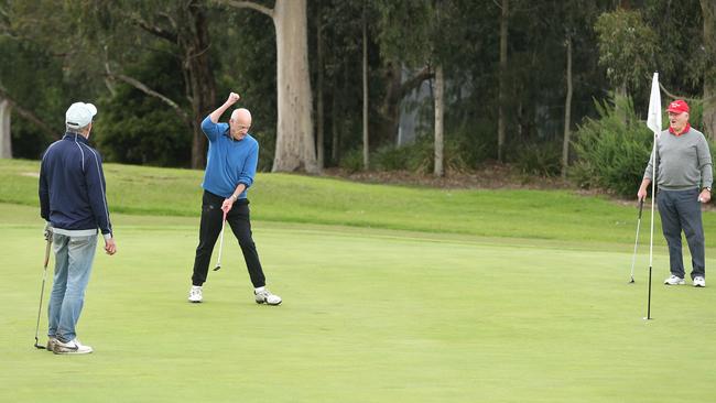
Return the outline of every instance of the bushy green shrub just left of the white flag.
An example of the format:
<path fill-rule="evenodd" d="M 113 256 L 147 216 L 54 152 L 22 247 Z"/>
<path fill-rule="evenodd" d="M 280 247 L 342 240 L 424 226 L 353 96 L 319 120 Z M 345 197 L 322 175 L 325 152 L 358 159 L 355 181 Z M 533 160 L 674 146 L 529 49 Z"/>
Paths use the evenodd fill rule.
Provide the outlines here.
<path fill-rule="evenodd" d="M 643 177 L 653 145 L 653 133 L 633 110 L 630 98 L 616 96 L 614 104 L 595 101 L 598 119 L 587 119 L 575 133 L 578 163 L 573 178 L 582 187 L 603 187 L 633 197 Z"/>

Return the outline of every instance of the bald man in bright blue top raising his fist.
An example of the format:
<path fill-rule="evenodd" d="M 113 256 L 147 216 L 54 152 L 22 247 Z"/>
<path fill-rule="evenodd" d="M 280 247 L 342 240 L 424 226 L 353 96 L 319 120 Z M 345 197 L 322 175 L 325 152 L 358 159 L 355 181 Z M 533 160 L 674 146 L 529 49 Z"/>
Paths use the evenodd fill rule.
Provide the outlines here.
<path fill-rule="evenodd" d="M 200 303 L 203 299 L 202 286 L 206 282 L 214 244 L 226 214 L 226 220 L 241 247 L 257 304 L 279 305 L 281 297 L 265 287 L 265 276 L 251 237 L 247 192 L 253 184 L 259 162 L 259 143 L 249 134 L 251 113 L 239 108 L 231 112 L 229 123 L 219 123 L 221 115 L 238 100 L 239 95 L 231 92 L 226 102 L 202 122 L 202 130 L 209 140 L 209 150 L 202 183 L 204 196 L 199 244 L 194 259 L 188 301 Z"/>

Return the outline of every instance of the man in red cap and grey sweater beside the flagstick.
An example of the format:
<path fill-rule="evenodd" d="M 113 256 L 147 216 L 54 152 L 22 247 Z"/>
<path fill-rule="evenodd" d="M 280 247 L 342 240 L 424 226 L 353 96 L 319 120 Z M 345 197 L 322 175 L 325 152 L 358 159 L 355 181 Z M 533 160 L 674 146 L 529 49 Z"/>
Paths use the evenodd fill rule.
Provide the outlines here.
<path fill-rule="evenodd" d="M 704 134 L 688 123 L 688 110 L 684 100 L 669 105 L 669 130 L 662 131 L 657 140 L 657 203 L 671 265 L 671 276 L 664 284 L 685 283 L 683 231 L 691 252 L 691 277 L 694 286 L 703 287 L 706 286 L 706 272 L 701 204 L 710 200 L 714 175 L 708 143 Z M 637 193 L 639 200 L 647 198 L 647 188 L 653 179 L 653 161 L 652 155 Z"/>

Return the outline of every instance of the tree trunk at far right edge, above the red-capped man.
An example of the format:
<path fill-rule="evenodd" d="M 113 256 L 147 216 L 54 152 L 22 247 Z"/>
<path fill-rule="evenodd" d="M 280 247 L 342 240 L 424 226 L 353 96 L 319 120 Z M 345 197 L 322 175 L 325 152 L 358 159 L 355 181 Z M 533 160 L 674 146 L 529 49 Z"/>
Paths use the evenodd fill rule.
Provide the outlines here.
<path fill-rule="evenodd" d="M 704 72 L 704 131 L 716 139 L 716 2 L 701 0 L 704 15 L 704 47 L 706 69 Z"/>

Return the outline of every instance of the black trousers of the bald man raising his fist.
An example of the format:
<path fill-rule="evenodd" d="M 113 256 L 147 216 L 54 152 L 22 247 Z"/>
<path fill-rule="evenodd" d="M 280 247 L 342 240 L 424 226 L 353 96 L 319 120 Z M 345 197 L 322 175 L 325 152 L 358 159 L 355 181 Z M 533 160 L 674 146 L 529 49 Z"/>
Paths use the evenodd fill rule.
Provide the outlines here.
<path fill-rule="evenodd" d="M 194 259 L 194 274 L 192 275 L 192 284 L 202 285 L 206 282 L 206 276 L 209 270 L 209 261 L 211 260 L 211 252 L 216 244 L 219 233 L 221 232 L 221 204 L 224 197 L 217 196 L 213 193 L 204 190 L 202 197 L 202 224 L 199 226 L 199 244 L 196 247 L 196 258 Z M 254 287 L 265 285 L 265 277 L 259 261 L 259 252 L 256 250 L 253 238 L 251 237 L 251 221 L 249 219 L 249 200 L 238 199 L 229 210 L 226 217 L 226 222 L 231 227 L 231 231 L 236 239 L 239 241 L 241 252 L 243 252 L 243 260 L 246 261 L 249 276 Z M 227 233 L 225 230 L 224 242 L 227 241 Z"/>

